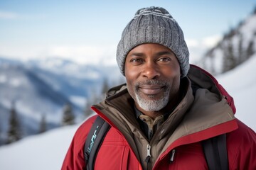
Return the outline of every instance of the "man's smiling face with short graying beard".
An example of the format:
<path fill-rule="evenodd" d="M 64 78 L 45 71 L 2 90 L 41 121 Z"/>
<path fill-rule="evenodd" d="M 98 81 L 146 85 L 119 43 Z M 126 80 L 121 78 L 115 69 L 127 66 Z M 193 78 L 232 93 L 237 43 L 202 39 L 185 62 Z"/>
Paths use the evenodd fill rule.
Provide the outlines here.
<path fill-rule="evenodd" d="M 180 66 L 174 52 L 164 45 L 134 47 L 124 65 L 127 89 L 141 111 L 160 111 L 175 103 L 180 86 Z"/>

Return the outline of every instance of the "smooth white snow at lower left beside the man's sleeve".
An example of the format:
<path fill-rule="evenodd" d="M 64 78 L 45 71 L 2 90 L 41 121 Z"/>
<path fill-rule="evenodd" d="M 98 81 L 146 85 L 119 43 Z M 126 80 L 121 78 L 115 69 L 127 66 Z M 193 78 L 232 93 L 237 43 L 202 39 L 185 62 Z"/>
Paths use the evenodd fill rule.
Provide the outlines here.
<path fill-rule="evenodd" d="M 50 130 L 0 147 L 0 169 L 60 169 L 78 125 Z"/>

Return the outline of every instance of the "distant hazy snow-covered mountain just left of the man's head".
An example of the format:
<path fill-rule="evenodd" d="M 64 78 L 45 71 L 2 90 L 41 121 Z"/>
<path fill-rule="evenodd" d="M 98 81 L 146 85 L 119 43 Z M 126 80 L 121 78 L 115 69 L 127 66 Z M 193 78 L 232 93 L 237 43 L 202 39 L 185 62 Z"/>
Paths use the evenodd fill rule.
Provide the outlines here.
<path fill-rule="evenodd" d="M 56 91 L 62 91 L 70 100 L 100 94 L 99 89 L 105 79 L 111 85 L 122 79 L 117 66 L 77 64 L 58 57 L 29 60 L 26 65 Z"/>

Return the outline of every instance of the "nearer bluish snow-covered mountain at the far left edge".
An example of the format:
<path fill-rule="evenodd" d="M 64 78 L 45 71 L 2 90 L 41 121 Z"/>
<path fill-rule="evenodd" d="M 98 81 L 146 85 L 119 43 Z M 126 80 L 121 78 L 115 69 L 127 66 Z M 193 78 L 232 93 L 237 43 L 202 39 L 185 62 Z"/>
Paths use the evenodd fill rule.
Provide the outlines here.
<path fill-rule="evenodd" d="M 43 115 L 47 118 L 48 129 L 58 127 L 63 106 L 71 103 L 66 96 L 21 64 L 0 63 L 0 91 L 0 144 L 6 138 L 12 107 L 18 114 L 22 136 L 26 137 L 39 132 Z M 80 110 L 77 106 L 73 108 L 76 112 Z"/>

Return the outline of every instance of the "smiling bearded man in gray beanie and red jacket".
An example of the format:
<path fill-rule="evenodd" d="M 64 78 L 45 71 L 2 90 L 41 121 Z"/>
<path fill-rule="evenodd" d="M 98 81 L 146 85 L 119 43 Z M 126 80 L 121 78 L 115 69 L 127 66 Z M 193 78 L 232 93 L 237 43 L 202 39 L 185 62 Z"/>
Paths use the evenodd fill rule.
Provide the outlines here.
<path fill-rule="evenodd" d="M 127 80 L 92 106 L 62 169 L 86 169 L 83 147 L 96 116 L 111 128 L 95 169 L 208 169 L 202 141 L 226 134 L 229 169 L 256 169 L 256 135 L 236 119 L 233 98 L 189 65 L 178 23 L 164 8 L 142 8 L 122 33 L 117 64 Z"/>

